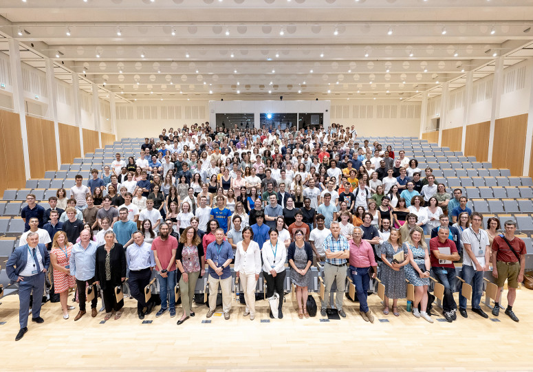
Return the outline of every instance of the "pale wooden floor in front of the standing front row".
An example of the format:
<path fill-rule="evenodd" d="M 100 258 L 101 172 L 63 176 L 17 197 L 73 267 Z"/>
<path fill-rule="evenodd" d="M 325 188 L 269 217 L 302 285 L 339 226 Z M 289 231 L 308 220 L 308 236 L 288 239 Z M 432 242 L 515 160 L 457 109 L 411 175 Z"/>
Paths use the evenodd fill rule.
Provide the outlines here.
<path fill-rule="evenodd" d="M 504 295 L 506 292 L 504 292 Z M 316 295 L 315 295 L 316 296 Z M 318 296 L 316 297 L 318 299 Z M 18 296 L 2 298 L 0 305 L 1 371 L 503 371 L 533 369 L 533 291 L 518 291 L 515 323 L 501 311 L 483 319 L 469 311 L 453 323 L 423 319 L 406 313 L 401 300 L 400 317 L 384 316 L 380 299 L 369 297 L 374 324 L 362 320 L 358 304 L 345 299 L 347 318 L 320 322 L 298 319 L 290 296 L 283 320 L 268 320 L 260 301 L 255 320 L 243 317 L 243 305 L 233 303 L 230 320 L 206 320 L 205 305 L 196 316 L 177 326 L 168 312 L 155 311 L 142 324 L 136 303 L 126 299 L 120 320 L 100 324 L 104 314 L 90 313 L 78 322 L 63 320 L 61 305 L 46 303 L 42 325 L 29 322 L 28 333 L 18 342 Z M 72 302 L 69 300 L 69 304 Z M 503 305 L 507 305 L 503 300 Z M 98 303 L 100 307 L 100 302 Z M 392 308 L 391 308 L 392 309 Z M 488 312 L 490 309 L 483 306 Z M 182 311 L 177 309 L 178 314 Z M 217 315 L 217 314 L 215 314 Z M 442 318 L 439 314 L 437 318 Z M 380 322 L 379 320 L 389 320 Z"/>

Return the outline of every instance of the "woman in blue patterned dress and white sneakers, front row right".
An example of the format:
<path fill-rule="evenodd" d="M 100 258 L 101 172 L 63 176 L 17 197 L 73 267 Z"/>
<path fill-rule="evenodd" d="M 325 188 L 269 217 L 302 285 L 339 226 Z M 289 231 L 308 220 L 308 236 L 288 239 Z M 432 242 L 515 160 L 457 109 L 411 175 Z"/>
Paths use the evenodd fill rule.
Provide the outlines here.
<path fill-rule="evenodd" d="M 415 300 L 413 301 L 413 315 L 416 318 L 424 318 L 430 323 L 433 319 L 426 312 L 428 306 L 429 285 L 429 253 L 422 234 L 413 229 L 409 232 L 409 238 L 404 243 L 404 251 L 407 249 L 409 265 L 405 266 L 405 276 L 409 283 L 415 286 Z M 418 305 L 420 304 L 420 311 Z"/>

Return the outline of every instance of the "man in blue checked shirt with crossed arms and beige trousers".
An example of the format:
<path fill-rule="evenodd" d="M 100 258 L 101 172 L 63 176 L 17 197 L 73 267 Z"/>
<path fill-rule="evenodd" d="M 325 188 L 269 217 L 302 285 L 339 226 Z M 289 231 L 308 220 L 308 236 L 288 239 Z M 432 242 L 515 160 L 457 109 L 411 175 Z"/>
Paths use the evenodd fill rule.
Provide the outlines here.
<path fill-rule="evenodd" d="M 342 310 L 342 299 L 345 295 L 346 262 L 350 251 L 348 241 L 340 234 L 340 226 L 337 221 L 331 222 L 331 234 L 324 241 L 326 263 L 324 264 L 324 298 L 320 308 L 320 315 L 326 316 L 326 308 L 329 304 L 329 291 L 333 281 L 336 281 L 335 307 L 342 318 L 346 313 Z M 331 305 L 331 304 L 329 304 Z"/>

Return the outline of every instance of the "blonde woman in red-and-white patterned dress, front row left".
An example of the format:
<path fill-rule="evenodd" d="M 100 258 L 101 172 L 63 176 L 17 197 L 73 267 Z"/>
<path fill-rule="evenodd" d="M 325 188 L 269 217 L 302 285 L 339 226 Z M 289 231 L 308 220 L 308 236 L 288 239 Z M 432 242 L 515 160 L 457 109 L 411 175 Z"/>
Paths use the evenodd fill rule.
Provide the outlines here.
<path fill-rule="evenodd" d="M 63 309 L 63 319 L 69 318 L 69 310 L 76 307 L 67 306 L 69 289 L 76 288 L 76 280 L 70 274 L 70 252 L 72 252 L 72 243 L 67 240 L 67 234 L 64 231 L 58 231 L 52 241 L 52 250 L 50 251 L 50 263 L 54 267 L 54 293 L 59 294 L 61 309 Z"/>

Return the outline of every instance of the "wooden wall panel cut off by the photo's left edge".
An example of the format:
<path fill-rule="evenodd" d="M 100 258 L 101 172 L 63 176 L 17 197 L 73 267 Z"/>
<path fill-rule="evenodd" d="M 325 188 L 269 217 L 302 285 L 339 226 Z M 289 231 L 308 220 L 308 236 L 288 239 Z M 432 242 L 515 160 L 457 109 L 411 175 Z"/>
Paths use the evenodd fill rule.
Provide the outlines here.
<path fill-rule="evenodd" d="M 26 183 L 21 124 L 18 113 L 0 110 L 0 188 L 23 188 Z"/>

